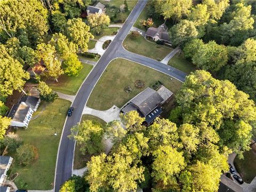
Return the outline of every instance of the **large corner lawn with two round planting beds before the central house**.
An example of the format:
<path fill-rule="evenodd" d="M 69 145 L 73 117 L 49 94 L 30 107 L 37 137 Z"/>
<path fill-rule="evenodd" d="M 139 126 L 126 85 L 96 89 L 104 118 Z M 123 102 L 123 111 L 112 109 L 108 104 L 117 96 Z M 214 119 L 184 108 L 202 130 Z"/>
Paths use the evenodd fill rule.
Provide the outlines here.
<path fill-rule="evenodd" d="M 115 59 L 109 63 L 109 66 L 94 87 L 87 106 L 98 110 L 107 110 L 113 105 L 120 108 L 156 81 L 162 82 L 164 86 L 176 93 L 182 83 L 170 78 L 168 75 L 138 63 L 125 59 Z M 137 79 L 145 81 L 143 89 L 137 89 L 134 86 L 134 82 Z M 133 90 L 130 93 L 126 93 L 124 91 L 126 86 L 131 86 Z"/>

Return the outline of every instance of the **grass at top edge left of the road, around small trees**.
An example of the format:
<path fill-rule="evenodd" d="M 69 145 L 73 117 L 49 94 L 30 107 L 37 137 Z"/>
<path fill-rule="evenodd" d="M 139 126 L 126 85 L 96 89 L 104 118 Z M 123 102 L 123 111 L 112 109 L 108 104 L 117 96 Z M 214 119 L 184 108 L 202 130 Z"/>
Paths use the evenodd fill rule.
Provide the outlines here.
<path fill-rule="evenodd" d="M 112 1 L 100 1 L 100 2 L 104 5 L 109 5 L 109 7 L 106 7 L 106 14 L 109 16 L 109 18 L 113 18 L 111 23 L 118 23 L 120 19 L 120 13 L 118 12 L 119 12 L 120 6 L 124 4 L 124 1 L 112 0 Z M 127 0 L 129 11 L 122 13 L 124 15 L 125 20 L 131 13 L 133 7 L 137 4 L 137 2 L 138 2 L 137 0 Z M 115 12 L 117 12 L 116 18 L 114 18 Z"/>

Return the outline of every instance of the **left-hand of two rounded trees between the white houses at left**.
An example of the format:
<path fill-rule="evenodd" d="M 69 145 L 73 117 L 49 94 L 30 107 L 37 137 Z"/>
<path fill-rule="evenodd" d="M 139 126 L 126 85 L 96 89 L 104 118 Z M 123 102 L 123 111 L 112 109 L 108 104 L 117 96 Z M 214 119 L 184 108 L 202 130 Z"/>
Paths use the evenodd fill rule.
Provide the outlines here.
<path fill-rule="evenodd" d="M 7 133 L 3 139 L 3 142 L 4 146 L 6 146 L 10 152 L 14 152 L 21 145 L 19 135 L 15 134 L 14 132 Z"/>

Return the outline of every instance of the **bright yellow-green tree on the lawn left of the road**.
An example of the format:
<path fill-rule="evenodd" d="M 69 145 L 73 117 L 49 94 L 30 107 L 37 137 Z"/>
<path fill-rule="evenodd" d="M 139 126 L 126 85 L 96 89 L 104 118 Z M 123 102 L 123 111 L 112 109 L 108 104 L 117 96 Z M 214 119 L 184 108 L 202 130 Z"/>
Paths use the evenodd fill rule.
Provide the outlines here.
<path fill-rule="evenodd" d="M 68 76 L 77 76 L 83 68 L 81 61 L 79 61 L 75 53 L 70 53 L 69 57 L 62 62 L 62 65 L 64 72 Z"/>

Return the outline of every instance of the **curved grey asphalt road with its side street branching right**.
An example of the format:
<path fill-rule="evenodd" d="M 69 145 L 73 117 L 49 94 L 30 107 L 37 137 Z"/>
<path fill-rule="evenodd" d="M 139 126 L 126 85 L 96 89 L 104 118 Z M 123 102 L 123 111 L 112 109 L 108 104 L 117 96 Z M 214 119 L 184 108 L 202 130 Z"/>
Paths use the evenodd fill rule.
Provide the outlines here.
<path fill-rule="evenodd" d="M 97 65 L 87 76 L 87 78 L 85 79 L 84 83 L 82 84 L 76 95 L 76 98 L 72 105 L 74 107 L 73 115 L 67 118 L 60 141 L 54 180 L 55 192 L 58 192 L 62 183 L 71 177 L 75 142 L 73 140 L 68 139 L 68 135 L 70 134 L 70 128 L 76 125 L 78 122 L 80 122 L 84 106 L 86 105 L 86 102 L 93 90 L 93 87 L 97 83 L 101 74 L 106 69 L 108 63 L 111 60 L 115 58 L 129 59 L 131 61 L 138 62 L 141 65 L 145 65 L 147 67 L 161 71 L 167 75 L 173 76 L 181 82 L 185 80 L 187 74 L 183 73 L 182 71 L 164 65 L 163 63 L 158 62 L 156 60 L 146 58 L 135 53 L 131 53 L 123 48 L 123 40 L 129 33 L 131 27 L 133 26 L 133 23 L 137 20 L 140 12 L 143 10 L 146 3 L 147 1 L 139 1 L 137 5 L 135 5 L 131 14 L 125 21 L 123 27 L 118 31 L 118 34 L 116 35 L 115 39 L 113 40 L 113 42 L 110 43 L 108 49 L 102 55 Z"/>

